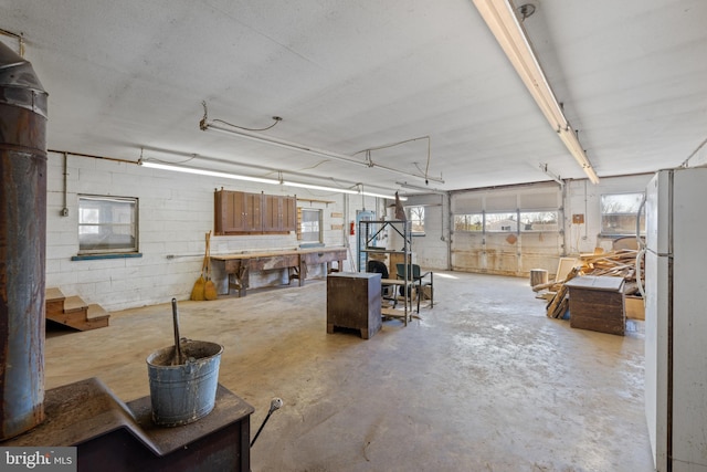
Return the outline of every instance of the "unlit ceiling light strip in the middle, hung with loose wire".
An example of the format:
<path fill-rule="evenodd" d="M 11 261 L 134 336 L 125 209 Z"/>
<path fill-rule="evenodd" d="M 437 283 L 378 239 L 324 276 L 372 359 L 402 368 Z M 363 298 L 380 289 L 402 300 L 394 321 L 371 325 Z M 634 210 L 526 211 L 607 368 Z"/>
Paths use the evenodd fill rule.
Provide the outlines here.
<path fill-rule="evenodd" d="M 205 105 L 204 105 L 204 108 L 205 108 Z M 232 135 L 232 136 L 239 136 L 239 137 L 242 137 L 242 138 L 245 138 L 245 139 L 251 139 L 251 140 L 255 140 L 255 141 L 258 141 L 258 143 L 264 143 L 264 144 L 267 144 L 267 145 L 282 147 L 282 148 L 285 148 L 285 149 L 297 150 L 297 151 L 310 154 L 310 155 L 314 155 L 314 156 L 320 156 L 320 157 L 325 157 L 327 159 L 334 159 L 334 160 L 338 160 L 338 161 L 346 162 L 346 164 L 355 164 L 357 166 L 363 166 L 363 167 L 378 167 L 379 169 L 383 169 L 383 170 L 387 170 L 389 172 L 401 174 L 403 176 L 416 177 L 419 179 L 433 180 L 435 182 L 444 183 L 444 180 L 442 180 L 440 178 L 436 178 L 436 177 L 430 177 L 430 176 L 424 176 L 422 174 L 409 172 L 407 170 L 393 169 L 393 168 L 388 167 L 388 166 L 381 166 L 381 165 L 376 164 L 376 162 L 373 162 L 371 160 L 367 160 L 367 161 L 357 160 L 357 159 L 354 159 L 350 156 L 346 156 L 344 154 L 334 153 L 334 151 L 326 150 L 326 149 L 318 149 L 316 147 L 305 146 L 303 144 L 293 143 L 293 141 L 288 141 L 288 140 L 279 139 L 279 138 L 275 138 L 275 137 L 272 137 L 272 136 L 263 135 L 261 133 L 250 132 L 250 130 L 246 130 L 246 129 L 235 128 L 235 127 L 226 127 L 226 126 L 220 125 L 219 123 L 214 123 L 214 120 L 209 122 L 207 119 L 205 115 L 201 119 L 201 122 L 199 122 L 199 127 L 203 132 L 209 130 L 209 129 L 213 129 L 215 132 L 225 133 L 225 134 L 229 134 L 229 135 Z"/>

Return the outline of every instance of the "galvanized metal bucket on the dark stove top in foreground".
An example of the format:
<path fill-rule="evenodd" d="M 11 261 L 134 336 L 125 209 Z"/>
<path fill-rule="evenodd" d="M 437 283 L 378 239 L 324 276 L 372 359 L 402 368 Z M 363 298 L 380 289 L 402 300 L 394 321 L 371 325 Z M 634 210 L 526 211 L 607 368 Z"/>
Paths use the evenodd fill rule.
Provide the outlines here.
<path fill-rule="evenodd" d="M 152 421 L 165 427 L 188 424 L 213 410 L 223 346 L 203 340 L 183 340 L 186 361 L 172 365 L 175 346 L 147 357 Z"/>

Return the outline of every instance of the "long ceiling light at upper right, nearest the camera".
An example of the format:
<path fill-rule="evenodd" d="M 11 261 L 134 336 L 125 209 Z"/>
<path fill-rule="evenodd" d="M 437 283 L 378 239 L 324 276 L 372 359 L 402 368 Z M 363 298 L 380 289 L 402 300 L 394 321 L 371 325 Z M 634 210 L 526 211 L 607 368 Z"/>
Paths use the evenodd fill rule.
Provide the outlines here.
<path fill-rule="evenodd" d="M 577 138 L 560 107 L 552 88 L 542 72 L 532 46 L 518 22 L 513 6 L 508 0 L 474 0 L 474 4 L 484 21 L 508 56 L 523 83 L 540 107 L 540 111 L 552 126 L 570 154 L 577 159 L 592 183 L 599 183 L 599 177 Z"/>

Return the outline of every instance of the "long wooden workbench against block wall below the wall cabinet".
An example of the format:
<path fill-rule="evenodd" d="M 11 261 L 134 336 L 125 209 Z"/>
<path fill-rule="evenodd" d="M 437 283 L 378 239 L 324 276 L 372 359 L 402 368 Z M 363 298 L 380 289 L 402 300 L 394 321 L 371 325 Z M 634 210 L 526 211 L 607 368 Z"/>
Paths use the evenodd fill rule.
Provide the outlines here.
<path fill-rule="evenodd" d="M 299 286 L 303 286 L 307 277 L 307 266 L 326 264 L 328 274 L 331 271 L 331 262 L 336 261 L 340 271 L 345 260 L 346 248 L 310 248 L 211 256 L 212 262 L 222 263 L 224 266 L 229 277 L 229 293 L 234 289 L 239 291 L 239 296 L 245 296 L 251 272 L 294 269 Z"/>

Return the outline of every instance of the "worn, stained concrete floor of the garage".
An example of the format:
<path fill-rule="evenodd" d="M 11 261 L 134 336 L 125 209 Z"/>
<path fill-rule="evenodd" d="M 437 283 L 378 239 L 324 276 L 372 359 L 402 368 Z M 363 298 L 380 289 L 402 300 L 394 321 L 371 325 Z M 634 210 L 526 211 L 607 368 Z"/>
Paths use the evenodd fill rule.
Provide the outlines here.
<path fill-rule="evenodd" d="M 219 380 L 255 407 L 257 471 L 651 471 L 641 324 L 625 337 L 545 316 L 529 282 L 435 273 L 435 306 L 369 340 L 326 333 L 326 282 L 180 302 L 182 336 L 224 346 Z M 169 302 L 169 301 L 166 301 Z M 46 388 L 149 395 L 169 303 L 48 333 Z"/>

